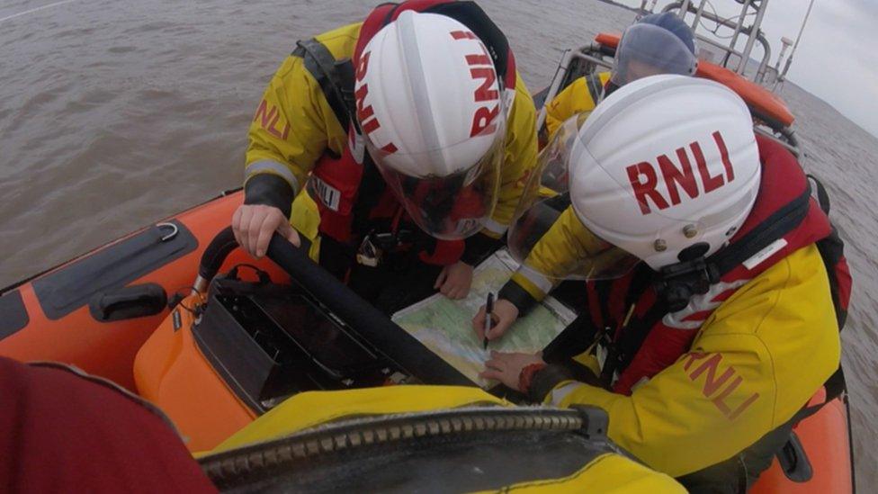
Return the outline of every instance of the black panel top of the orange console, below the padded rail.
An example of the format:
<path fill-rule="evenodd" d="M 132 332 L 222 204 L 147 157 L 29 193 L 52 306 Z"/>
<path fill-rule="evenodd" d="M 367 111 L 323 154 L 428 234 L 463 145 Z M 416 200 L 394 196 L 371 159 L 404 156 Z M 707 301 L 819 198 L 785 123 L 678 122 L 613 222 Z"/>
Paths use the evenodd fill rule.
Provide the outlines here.
<path fill-rule="evenodd" d="M 412 379 L 296 286 L 217 278 L 192 331 L 202 355 L 237 398 L 256 411 L 301 391 Z"/>

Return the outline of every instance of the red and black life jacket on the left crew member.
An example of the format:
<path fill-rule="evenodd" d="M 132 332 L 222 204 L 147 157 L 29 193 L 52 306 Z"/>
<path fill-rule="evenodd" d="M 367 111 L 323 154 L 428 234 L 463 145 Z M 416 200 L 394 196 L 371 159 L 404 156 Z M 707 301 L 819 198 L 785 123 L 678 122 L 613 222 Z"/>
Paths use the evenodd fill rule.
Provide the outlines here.
<path fill-rule="evenodd" d="M 504 34 L 488 15 L 472 2 L 454 0 L 409 0 L 401 4 L 381 4 L 366 17 L 351 59 L 336 60 L 318 40 L 300 41 L 293 52 L 305 58 L 311 73 L 333 109 L 336 119 L 348 133 L 348 146 L 341 156 L 327 152 L 311 171 L 306 190 L 318 205 L 319 232 L 343 244 L 351 244 L 372 230 L 390 229 L 396 233 L 408 217 L 390 191 L 364 147 L 363 130 L 357 114 L 368 112 L 356 103 L 354 77 L 365 72 L 369 62 L 363 49 L 385 25 L 402 13 L 413 10 L 440 13 L 461 22 L 485 43 L 502 82 L 506 108 L 515 97 L 515 58 Z M 402 216 L 402 218 L 400 218 Z M 463 240 L 435 240 L 431 253 L 422 251 L 422 261 L 450 265 L 460 259 Z"/>

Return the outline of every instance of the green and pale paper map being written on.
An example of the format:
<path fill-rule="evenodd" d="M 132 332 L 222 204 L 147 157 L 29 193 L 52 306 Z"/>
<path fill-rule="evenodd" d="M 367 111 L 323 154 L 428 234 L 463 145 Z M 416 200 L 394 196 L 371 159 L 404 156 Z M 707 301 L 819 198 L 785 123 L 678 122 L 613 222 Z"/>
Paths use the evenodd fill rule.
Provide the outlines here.
<path fill-rule="evenodd" d="M 496 382 L 479 378 L 479 373 L 484 370 L 491 350 L 538 352 L 576 319 L 575 312 L 547 297 L 484 350 L 472 328 L 472 318 L 485 304 L 488 291 L 496 295 L 516 268 L 517 263 L 506 250 L 498 251 L 476 267 L 466 299 L 452 301 L 437 293 L 400 310 L 391 319 L 472 382 L 487 389 Z"/>

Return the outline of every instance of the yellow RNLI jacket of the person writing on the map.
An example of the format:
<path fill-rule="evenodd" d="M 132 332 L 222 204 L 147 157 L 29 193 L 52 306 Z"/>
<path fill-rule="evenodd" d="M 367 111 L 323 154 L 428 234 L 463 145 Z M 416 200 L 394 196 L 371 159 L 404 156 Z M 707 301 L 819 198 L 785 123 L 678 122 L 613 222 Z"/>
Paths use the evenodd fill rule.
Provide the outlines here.
<path fill-rule="evenodd" d="M 593 241 L 571 208 L 531 253 L 545 269 Z M 522 272 L 514 281 L 542 299 L 551 289 Z M 542 278 L 547 280 L 548 278 Z M 631 396 L 561 382 L 552 404 L 595 405 L 608 436 L 650 467 L 678 477 L 720 463 L 793 418 L 837 368 L 841 346 L 818 248 L 793 252 L 713 311 L 690 351 Z"/>

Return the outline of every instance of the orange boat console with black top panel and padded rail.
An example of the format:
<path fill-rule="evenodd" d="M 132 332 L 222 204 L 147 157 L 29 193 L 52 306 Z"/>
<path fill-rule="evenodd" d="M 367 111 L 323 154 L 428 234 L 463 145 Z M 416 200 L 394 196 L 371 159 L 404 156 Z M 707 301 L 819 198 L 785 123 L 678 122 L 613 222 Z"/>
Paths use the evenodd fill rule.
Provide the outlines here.
<path fill-rule="evenodd" d="M 211 241 L 193 293 L 176 301 L 135 359 L 139 393 L 192 437 L 193 450 L 213 447 L 304 391 L 474 385 L 305 249 L 275 235 L 267 256 L 291 283 L 273 283 L 252 265 L 218 274 L 235 248 L 231 228 Z M 246 271 L 256 279 L 245 280 Z"/>

